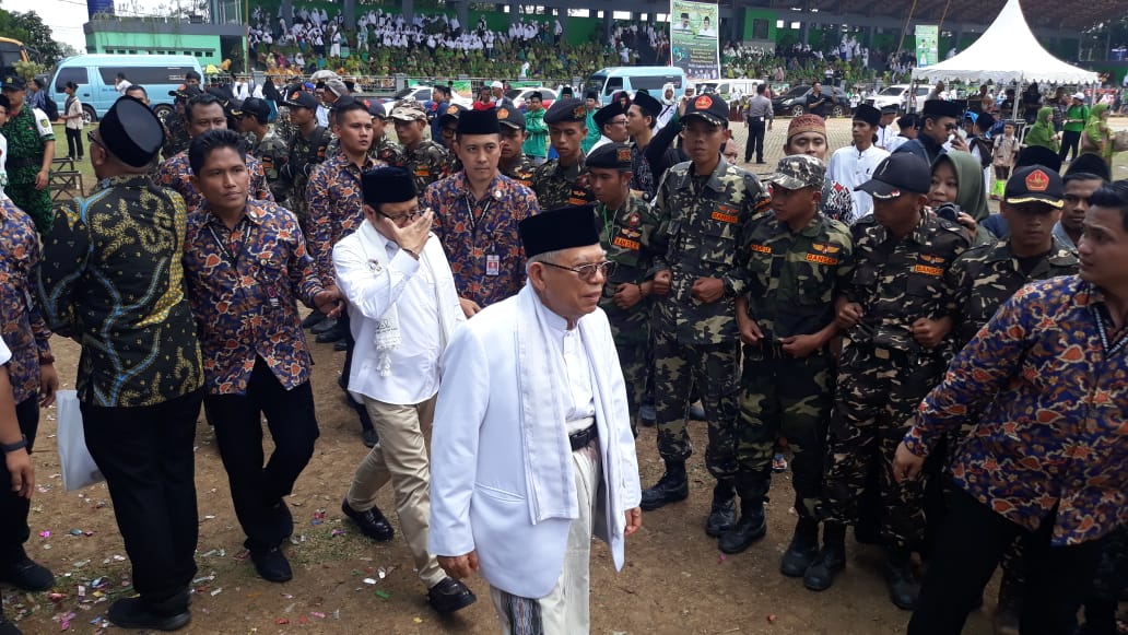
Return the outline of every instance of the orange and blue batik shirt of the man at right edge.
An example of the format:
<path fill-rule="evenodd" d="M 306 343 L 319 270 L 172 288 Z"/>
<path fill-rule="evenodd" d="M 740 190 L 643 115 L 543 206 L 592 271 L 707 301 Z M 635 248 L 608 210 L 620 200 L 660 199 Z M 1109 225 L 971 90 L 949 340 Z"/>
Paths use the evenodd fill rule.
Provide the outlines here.
<path fill-rule="evenodd" d="M 1050 543 L 1078 545 L 1128 523 L 1128 333 L 1077 276 L 1022 288 L 955 356 L 920 404 L 906 447 L 976 422 L 952 464 L 957 486 Z"/>

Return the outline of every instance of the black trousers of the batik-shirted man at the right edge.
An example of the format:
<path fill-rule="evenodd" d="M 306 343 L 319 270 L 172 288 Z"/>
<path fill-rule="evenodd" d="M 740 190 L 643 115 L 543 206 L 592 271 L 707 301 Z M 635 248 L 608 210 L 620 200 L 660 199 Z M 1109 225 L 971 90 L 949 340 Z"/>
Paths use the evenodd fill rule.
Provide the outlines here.
<path fill-rule="evenodd" d="M 1007 547 L 1025 538 L 1026 587 L 1020 629 L 1023 635 L 1073 635 L 1077 609 L 1093 583 L 1103 540 L 1070 547 L 1050 546 L 1056 510 L 1037 531 L 995 513 L 957 488 L 941 529 L 928 575 L 908 635 L 955 635 L 978 606 L 984 587 Z"/>

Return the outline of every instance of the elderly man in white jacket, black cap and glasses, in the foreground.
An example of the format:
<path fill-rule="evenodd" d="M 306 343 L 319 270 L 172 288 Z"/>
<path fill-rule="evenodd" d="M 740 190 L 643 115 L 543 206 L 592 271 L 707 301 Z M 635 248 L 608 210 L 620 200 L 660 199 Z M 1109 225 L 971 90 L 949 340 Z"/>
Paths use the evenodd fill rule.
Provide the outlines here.
<path fill-rule="evenodd" d="M 512 634 L 590 629 L 591 537 L 623 567 L 642 524 L 623 371 L 598 308 L 614 263 L 592 208 L 521 221 L 528 283 L 459 327 L 442 361 L 431 552 L 481 572 Z"/>

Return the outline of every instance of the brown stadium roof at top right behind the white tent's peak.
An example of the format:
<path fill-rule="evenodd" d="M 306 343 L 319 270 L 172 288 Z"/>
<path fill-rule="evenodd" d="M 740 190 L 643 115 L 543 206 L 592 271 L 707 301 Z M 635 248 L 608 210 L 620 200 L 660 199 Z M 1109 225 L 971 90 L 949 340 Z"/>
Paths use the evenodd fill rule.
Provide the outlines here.
<path fill-rule="evenodd" d="M 1006 0 L 735 0 L 735 6 L 765 6 L 774 9 L 809 7 L 820 12 L 851 16 L 882 16 L 905 19 L 916 5 L 913 23 L 963 23 L 989 25 L 1003 10 Z M 946 16 L 945 16 L 946 7 Z M 1022 0 L 1022 10 L 1032 28 L 1074 29 L 1091 27 L 1123 15 L 1123 0 Z"/>

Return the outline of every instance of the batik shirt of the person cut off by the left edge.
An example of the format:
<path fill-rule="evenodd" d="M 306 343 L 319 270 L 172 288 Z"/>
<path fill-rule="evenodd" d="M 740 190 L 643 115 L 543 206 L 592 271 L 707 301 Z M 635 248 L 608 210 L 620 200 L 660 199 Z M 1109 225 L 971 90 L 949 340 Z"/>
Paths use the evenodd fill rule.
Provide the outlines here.
<path fill-rule="evenodd" d="M 39 235 L 32 217 L 0 201 L 0 333 L 11 350 L 8 378 L 19 404 L 39 390 L 39 358 L 51 330 L 32 300 L 39 275 Z"/>

